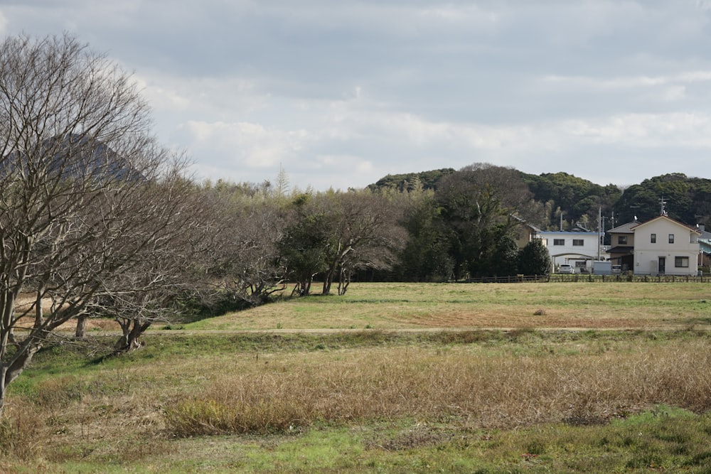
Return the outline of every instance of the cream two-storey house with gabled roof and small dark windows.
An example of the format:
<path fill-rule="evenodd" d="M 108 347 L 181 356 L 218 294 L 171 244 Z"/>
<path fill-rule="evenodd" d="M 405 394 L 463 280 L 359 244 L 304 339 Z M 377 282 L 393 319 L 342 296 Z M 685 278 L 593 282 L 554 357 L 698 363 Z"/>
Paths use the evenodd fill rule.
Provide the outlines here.
<path fill-rule="evenodd" d="M 697 274 L 700 232 L 660 215 L 631 228 L 634 232 L 634 274 Z"/>

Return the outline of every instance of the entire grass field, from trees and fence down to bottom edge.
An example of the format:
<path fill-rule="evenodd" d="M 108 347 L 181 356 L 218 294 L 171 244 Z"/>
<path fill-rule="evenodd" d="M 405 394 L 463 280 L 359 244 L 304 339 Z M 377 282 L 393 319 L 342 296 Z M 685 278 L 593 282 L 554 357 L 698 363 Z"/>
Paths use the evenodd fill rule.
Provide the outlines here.
<path fill-rule="evenodd" d="M 0 472 L 707 473 L 705 284 L 353 284 L 63 345 Z"/>

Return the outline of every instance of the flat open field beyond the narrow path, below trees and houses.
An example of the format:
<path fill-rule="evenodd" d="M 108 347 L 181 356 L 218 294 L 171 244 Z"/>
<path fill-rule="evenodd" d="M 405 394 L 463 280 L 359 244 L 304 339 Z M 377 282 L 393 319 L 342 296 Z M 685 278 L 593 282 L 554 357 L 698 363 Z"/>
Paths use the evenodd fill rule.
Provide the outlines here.
<path fill-rule="evenodd" d="M 711 327 L 711 283 L 351 284 L 210 318 L 210 330 Z"/>

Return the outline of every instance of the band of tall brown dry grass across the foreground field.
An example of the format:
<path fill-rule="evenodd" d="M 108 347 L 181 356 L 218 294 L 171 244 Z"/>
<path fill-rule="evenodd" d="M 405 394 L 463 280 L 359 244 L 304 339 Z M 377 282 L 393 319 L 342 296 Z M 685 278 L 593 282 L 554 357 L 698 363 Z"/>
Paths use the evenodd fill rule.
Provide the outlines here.
<path fill-rule="evenodd" d="M 167 423 L 177 436 L 408 416 L 511 428 L 601 422 L 658 403 L 711 408 L 707 343 L 574 356 L 387 348 L 312 355 L 296 365 L 274 359 L 178 396 Z"/>

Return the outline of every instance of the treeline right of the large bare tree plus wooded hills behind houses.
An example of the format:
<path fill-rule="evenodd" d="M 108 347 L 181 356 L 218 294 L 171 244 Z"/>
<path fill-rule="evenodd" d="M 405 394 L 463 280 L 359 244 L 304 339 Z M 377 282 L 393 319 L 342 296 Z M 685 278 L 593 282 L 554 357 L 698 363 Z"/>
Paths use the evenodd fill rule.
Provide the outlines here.
<path fill-rule="evenodd" d="M 389 175 L 347 192 L 289 190 L 283 171 L 274 185 L 218 181 L 200 188 L 216 203 L 211 214 L 232 222 L 214 254 L 232 259 L 232 272 L 215 262 L 219 271 L 205 273 L 222 278 L 218 294 L 257 304 L 287 282 L 293 294 L 306 295 L 344 293 L 353 278 L 545 274 L 547 253 L 538 243 L 525 247 L 524 224 L 609 230 L 658 215 L 662 197 L 671 217 L 705 223 L 711 182 L 673 174 L 623 192 L 567 173 L 535 176 L 475 163 L 459 171 Z"/>

